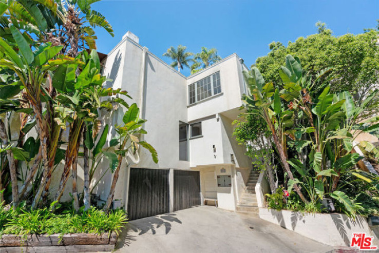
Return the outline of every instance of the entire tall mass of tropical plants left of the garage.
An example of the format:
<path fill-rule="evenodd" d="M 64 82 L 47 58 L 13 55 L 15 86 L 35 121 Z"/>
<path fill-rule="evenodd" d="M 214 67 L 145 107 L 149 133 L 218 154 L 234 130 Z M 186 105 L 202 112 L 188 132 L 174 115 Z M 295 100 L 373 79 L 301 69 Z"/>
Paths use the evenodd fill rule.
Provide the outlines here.
<path fill-rule="evenodd" d="M 0 1 L 0 202 L 12 203 L 14 211 L 25 203 L 25 215 L 18 213 L 9 222 L 16 231 L 17 220 L 28 215 L 53 219 L 68 181 L 74 212 L 101 216 L 91 208 L 91 198 L 105 173 L 113 173 L 104 206 L 108 211 L 123 159 L 127 163 L 127 157 L 144 147 L 158 162 L 155 149 L 140 141 L 145 120 L 135 104 L 125 102 L 130 96 L 102 86 L 106 77 L 94 50 L 93 28 L 102 27 L 110 35 L 113 31 L 91 9 L 93 2 Z M 124 111 L 124 124 L 116 127 L 119 137 L 108 141 L 104 119 L 112 120 L 119 111 Z M 77 184 L 79 159 L 84 161 L 83 189 Z M 98 176 L 105 160 L 109 168 Z M 60 183 L 51 190 L 54 174 Z M 38 209 L 49 203 L 51 210 Z"/>

